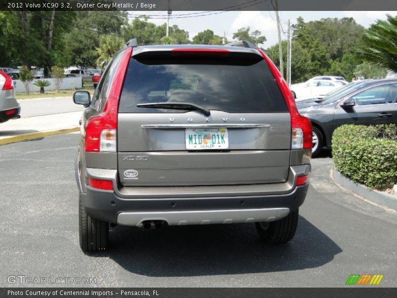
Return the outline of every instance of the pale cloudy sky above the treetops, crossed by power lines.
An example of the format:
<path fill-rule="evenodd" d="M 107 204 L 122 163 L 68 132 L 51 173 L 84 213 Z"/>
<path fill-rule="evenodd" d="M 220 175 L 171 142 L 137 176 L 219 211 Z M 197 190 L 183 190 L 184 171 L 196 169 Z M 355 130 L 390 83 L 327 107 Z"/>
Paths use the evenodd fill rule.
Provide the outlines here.
<path fill-rule="evenodd" d="M 173 11 L 172 15 L 197 13 L 198 11 Z M 130 11 L 133 14 L 151 14 L 159 17 L 166 16 L 167 11 Z M 282 39 L 286 39 L 287 21 L 291 20 L 291 24 L 296 23 L 296 19 L 302 16 L 305 21 L 320 20 L 321 18 L 342 18 L 353 17 L 358 24 L 368 27 L 376 22 L 377 19 L 386 19 L 386 14 L 397 15 L 397 11 L 280 11 L 279 16 L 284 28 L 285 35 L 282 33 Z M 193 15 L 191 15 L 193 16 Z M 266 37 L 265 43 L 262 45 L 268 48 L 277 43 L 277 28 L 275 22 L 274 11 L 226 11 L 222 13 L 196 16 L 187 18 L 170 19 L 170 26 L 178 25 L 179 28 L 189 32 L 190 39 L 197 33 L 205 29 L 211 29 L 216 35 L 223 36 L 230 41 L 233 40 L 233 33 L 242 27 L 250 27 L 251 31 L 260 30 Z M 149 19 L 156 25 L 166 22 L 166 19 Z"/>

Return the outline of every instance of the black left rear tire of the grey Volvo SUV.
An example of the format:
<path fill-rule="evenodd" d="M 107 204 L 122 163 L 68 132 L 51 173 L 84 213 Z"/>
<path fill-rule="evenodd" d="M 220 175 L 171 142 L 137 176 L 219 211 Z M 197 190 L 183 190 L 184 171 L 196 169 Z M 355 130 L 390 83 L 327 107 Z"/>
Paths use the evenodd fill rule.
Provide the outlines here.
<path fill-rule="evenodd" d="M 109 224 L 90 217 L 85 212 L 81 198 L 79 198 L 78 223 L 82 251 L 93 252 L 108 248 Z"/>

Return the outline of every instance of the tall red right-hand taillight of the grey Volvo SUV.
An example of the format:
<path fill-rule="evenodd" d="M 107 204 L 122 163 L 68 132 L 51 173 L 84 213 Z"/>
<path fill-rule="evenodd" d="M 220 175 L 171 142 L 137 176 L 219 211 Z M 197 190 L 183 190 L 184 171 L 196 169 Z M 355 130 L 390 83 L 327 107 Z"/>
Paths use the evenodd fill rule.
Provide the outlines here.
<path fill-rule="evenodd" d="M 274 65 L 274 63 L 270 60 L 269 57 L 266 56 L 266 54 L 258 49 L 258 51 L 261 53 L 261 55 L 264 57 L 270 72 L 273 74 L 278 87 L 281 90 L 282 95 L 285 98 L 285 102 L 287 103 L 289 112 L 291 114 L 291 136 L 292 134 L 296 134 L 292 129 L 293 128 L 298 128 L 302 130 L 303 133 L 303 142 L 302 142 L 302 148 L 301 149 L 312 149 L 313 144 L 312 144 L 312 123 L 310 120 L 306 117 L 303 117 L 299 114 L 298 109 L 296 108 L 295 100 L 294 97 L 292 96 L 291 91 L 288 88 L 287 83 L 285 82 L 284 78 L 278 71 L 277 67 Z"/>

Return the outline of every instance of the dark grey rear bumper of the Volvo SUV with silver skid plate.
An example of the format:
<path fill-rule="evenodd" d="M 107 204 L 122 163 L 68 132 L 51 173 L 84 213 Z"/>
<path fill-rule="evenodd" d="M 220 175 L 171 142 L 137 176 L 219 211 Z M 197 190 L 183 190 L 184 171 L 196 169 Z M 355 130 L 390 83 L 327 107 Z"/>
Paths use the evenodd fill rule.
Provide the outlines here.
<path fill-rule="evenodd" d="M 104 222 L 140 225 L 163 220 L 169 225 L 271 222 L 301 206 L 309 184 L 288 194 L 265 196 L 126 199 L 114 191 L 87 186 L 80 193 L 88 215 Z"/>

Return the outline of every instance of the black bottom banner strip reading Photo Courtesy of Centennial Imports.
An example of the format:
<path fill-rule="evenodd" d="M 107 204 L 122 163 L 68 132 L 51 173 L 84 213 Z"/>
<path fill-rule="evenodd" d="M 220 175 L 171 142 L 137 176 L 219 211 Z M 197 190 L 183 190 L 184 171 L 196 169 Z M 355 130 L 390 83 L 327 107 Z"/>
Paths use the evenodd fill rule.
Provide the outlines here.
<path fill-rule="evenodd" d="M 397 288 L 0 288 L 1 298 L 373 298 Z"/>

